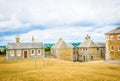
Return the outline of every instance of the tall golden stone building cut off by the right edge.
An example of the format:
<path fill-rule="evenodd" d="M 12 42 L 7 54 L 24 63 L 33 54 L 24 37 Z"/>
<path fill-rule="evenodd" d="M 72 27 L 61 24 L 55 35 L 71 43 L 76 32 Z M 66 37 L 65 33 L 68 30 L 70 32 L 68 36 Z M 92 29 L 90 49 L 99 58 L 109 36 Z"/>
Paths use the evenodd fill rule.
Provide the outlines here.
<path fill-rule="evenodd" d="M 106 35 L 106 60 L 120 59 L 120 27 L 117 27 Z"/>

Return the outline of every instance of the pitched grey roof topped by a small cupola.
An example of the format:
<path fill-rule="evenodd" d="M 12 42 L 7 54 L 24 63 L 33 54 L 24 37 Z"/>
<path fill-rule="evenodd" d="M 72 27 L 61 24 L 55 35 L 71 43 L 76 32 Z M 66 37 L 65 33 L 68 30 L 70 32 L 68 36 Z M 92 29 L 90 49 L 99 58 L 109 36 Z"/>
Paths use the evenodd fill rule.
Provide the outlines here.
<path fill-rule="evenodd" d="M 93 40 L 91 40 L 89 35 L 87 35 L 85 38 L 86 40 L 83 41 L 78 47 L 105 47 L 104 43 L 96 43 Z"/>

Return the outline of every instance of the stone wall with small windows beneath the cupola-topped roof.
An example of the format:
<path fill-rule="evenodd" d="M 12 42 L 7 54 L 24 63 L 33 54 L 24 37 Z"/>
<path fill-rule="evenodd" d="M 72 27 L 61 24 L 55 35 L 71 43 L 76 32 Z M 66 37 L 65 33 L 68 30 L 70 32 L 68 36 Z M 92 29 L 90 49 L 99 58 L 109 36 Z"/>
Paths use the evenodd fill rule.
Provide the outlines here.
<path fill-rule="evenodd" d="M 79 61 L 101 60 L 105 58 L 105 48 L 79 48 Z"/>

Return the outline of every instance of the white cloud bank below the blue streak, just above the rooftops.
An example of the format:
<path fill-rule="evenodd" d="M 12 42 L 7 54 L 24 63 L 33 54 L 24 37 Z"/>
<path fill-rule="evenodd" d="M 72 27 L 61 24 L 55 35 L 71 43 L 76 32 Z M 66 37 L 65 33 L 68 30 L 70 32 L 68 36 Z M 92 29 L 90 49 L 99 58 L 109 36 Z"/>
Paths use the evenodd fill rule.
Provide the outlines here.
<path fill-rule="evenodd" d="M 36 42 L 44 42 L 44 43 L 54 43 L 58 38 L 62 37 L 67 42 L 82 42 L 85 39 L 86 34 L 91 36 L 91 39 L 94 41 L 104 41 L 105 42 L 105 30 L 111 30 L 112 26 L 104 27 L 104 28 L 94 28 L 94 27 L 61 27 L 61 28 L 52 28 L 46 30 L 33 30 L 28 33 L 20 34 L 21 42 L 31 42 L 32 36 L 35 37 Z M 92 30 L 92 31 L 91 31 Z M 15 42 L 16 35 L 12 36 L 4 36 L 3 40 L 7 40 L 7 42 Z M 103 40 L 104 39 L 104 40 Z"/>

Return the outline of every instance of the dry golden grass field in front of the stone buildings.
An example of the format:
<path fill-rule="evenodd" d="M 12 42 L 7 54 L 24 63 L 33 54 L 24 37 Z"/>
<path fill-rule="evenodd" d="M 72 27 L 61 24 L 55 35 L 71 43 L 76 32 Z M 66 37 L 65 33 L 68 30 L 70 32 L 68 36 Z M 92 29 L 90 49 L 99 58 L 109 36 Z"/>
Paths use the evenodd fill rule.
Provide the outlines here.
<path fill-rule="evenodd" d="M 120 65 L 60 59 L 3 61 L 0 81 L 120 81 Z"/>

